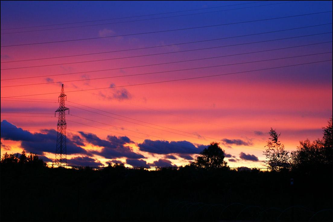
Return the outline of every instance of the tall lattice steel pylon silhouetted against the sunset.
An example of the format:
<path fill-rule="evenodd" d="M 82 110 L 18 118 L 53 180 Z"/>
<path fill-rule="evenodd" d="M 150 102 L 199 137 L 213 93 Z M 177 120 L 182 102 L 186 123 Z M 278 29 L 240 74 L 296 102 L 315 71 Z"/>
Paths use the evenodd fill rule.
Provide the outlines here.
<path fill-rule="evenodd" d="M 64 93 L 64 84 L 61 86 L 60 93 L 60 105 L 56 112 L 59 112 L 58 120 L 58 136 L 57 136 L 57 148 L 56 148 L 56 159 L 54 161 L 55 165 L 58 166 L 67 166 L 66 158 L 66 120 L 65 120 L 65 111 L 69 108 L 65 107 L 65 93 Z M 59 100 L 59 99 L 58 99 Z M 69 113 L 69 111 L 68 111 Z"/>

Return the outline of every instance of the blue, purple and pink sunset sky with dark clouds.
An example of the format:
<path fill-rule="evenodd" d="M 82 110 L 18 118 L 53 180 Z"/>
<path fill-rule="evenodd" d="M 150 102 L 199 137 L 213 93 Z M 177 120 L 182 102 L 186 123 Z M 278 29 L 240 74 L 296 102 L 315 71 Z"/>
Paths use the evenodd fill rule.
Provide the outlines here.
<path fill-rule="evenodd" d="M 184 166 L 211 142 L 265 167 L 332 116 L 332 1 L 1 1 L 1 154 Z"/>

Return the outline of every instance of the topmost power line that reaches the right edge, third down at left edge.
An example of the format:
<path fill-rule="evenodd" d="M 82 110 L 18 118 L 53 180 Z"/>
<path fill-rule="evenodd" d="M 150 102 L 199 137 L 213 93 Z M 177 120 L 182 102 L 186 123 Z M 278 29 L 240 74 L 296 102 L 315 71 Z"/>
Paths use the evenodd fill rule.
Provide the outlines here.
<path fill-rule="evenodd" d="M 171 32 L 171 31 L 181 31 L 181 30 L 190 30 L 190 29 L 218 27 L 218 26 L 224 26 L 224 25 L 243 24 L 243 23 L 250 23 L 250 22 L 268 21 L 268 20 L 274 20 L 274 19 L 292 18 L 292 17 L 299 17 L 299 16 L 307 16 L 307 15 L 315 15 L 315 14 L 328 13 L 328 12 L 332 12 L 332 11 L 316 12 L 316 13 L 309 13 L 309 14 L 303 14 L 303 15 L 284 16 L 284 17 L 277 17 L 277 18 L 270 18 L 270 19 L 259 19 L 259 20 L 245 21 L 245 22 L 234 22 L 234 23 L 219 24 L 219 25 L 200 26 L 200 27 L 192 27 L 192 28 L 172 29 L 172 30 L 163 30 L 163 31 L 145 32 L 145 33 L 135 33 L 135 34 L 125 34 L 125 35 L 107 36 L 107 37 L 95 37 L 95 38 L 86 38 L 86 39 L 74 39 L 74 40 L 52 41 L 52 42 L 42 42 L 42 43 L 29 43 L 29 44 L 7 45 L 7 46 L 1 46 L 1 47 L 30 46 L 30 45 L 39 45 L 39 44 L 49 44 L 49 43 L 63 43 L 63 42 L 73 42 L 73 41 L 83 41 L 83 40 L 93 40 L 93 39 L 105 39 L 105 38 L 112 38 L 112 37 L 124 37 L 124 36 L 133 36 L 133 35 L 144 35 L 144 34 L 153 34 L 153 33 L 163 33 L 163 32 Z"/>

